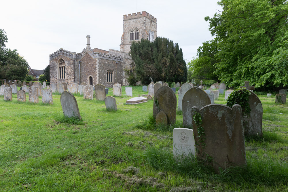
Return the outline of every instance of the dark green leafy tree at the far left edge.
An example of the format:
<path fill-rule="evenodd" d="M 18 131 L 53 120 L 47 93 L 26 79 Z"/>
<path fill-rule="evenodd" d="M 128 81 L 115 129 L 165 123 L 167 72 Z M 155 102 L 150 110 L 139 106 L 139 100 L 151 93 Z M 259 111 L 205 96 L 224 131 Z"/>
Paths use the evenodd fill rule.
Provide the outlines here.
<path fill-rule="evenodd" d="M 24 80 L 28 74 L 29 64 L 16 49 L 7 49 L 5 45 L 7 42 L 5 31 L 0 29 L 0 79 Z"/>

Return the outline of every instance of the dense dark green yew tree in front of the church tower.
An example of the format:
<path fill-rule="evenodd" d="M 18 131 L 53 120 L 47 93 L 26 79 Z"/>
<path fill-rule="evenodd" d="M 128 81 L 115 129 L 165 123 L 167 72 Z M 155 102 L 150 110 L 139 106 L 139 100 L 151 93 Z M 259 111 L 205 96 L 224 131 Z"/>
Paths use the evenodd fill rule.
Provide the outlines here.
<path fill-rule="evenodd" d="M 187 67 L 178 43 L 162 37 L 154 42 L 142 39 L 132 42 L 130 54 L 135 63 L 134 72 L 142 84 L 148 84 L 150 77 L 154 82 L 187 81 Z"/>

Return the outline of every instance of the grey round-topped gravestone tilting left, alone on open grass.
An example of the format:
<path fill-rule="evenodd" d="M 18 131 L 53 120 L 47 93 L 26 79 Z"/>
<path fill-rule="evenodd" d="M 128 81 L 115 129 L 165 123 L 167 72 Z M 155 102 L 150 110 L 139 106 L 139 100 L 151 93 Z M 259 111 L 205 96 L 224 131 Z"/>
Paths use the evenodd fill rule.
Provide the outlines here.
<path fill-rule="evenodd" d="M 68 91 L 63 91 L 60 97 L 60 102 L 65 117 L 75 117 L 77 119 L 82 119 L 77 101 L 73 94 Z"/>

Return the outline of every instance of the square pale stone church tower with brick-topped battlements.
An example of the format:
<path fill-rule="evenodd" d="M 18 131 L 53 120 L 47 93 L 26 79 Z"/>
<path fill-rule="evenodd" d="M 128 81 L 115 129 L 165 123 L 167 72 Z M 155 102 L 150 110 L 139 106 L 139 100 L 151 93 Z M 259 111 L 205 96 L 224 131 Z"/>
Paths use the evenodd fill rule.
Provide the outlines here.
<path fill-rule="evenodd" d="M 130 52 L 132 41 L 149 39 L 154 41 L 157 37 L 157 19 L 146 11 L 123 16 L 123 34 L 120 51 Z"/>

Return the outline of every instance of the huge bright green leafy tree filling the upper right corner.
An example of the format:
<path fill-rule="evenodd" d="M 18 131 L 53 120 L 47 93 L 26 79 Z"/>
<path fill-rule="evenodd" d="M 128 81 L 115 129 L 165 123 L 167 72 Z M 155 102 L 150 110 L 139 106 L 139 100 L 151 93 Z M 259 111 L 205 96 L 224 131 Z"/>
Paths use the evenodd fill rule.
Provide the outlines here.
<path fill-rule="evenodd" d="M 217 39 L 215 74 L 238 86 L 288 84 L 286 0 L 221 0 L 223 11 L 209 21 Z"/>

